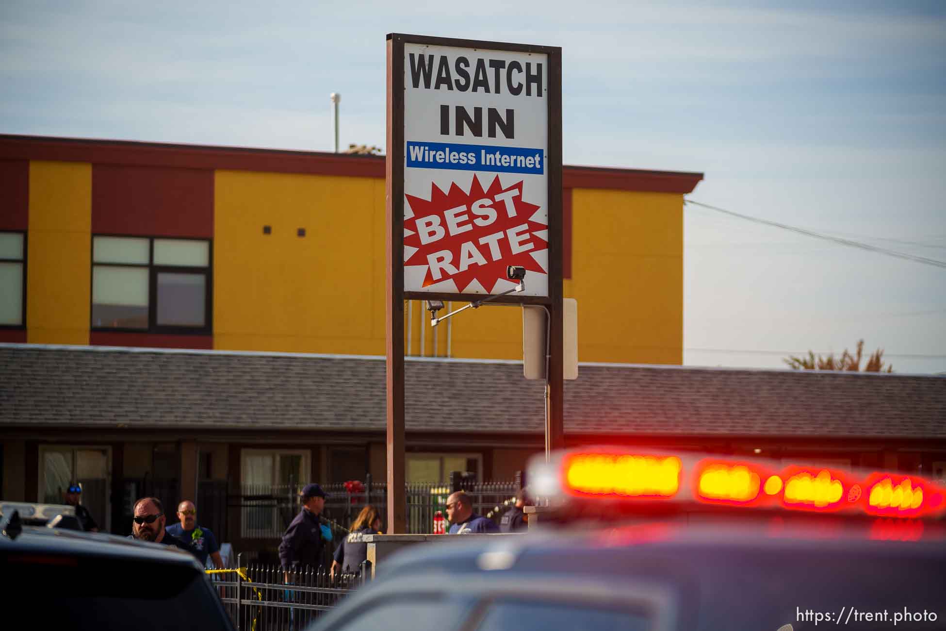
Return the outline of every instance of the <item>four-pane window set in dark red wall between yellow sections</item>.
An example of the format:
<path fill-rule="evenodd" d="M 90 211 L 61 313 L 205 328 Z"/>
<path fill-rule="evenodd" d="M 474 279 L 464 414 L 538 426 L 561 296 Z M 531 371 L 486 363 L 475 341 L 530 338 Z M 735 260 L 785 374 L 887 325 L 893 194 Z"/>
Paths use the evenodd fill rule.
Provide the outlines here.
<path fill-rule="evenodd" d="M 211 331 L 210 241 L 92 239 L 92 328 Z"/>

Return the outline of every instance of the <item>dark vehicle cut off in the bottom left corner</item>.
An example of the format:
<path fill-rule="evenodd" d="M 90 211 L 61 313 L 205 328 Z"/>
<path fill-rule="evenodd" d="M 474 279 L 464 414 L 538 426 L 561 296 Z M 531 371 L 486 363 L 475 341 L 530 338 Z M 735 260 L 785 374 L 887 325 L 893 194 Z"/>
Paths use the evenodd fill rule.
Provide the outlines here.
<path fill-rule="evenodd" d="M 0 521 L 4 623 L 62 629 L 231 631 L 189 552 L 132 539 Z"/>

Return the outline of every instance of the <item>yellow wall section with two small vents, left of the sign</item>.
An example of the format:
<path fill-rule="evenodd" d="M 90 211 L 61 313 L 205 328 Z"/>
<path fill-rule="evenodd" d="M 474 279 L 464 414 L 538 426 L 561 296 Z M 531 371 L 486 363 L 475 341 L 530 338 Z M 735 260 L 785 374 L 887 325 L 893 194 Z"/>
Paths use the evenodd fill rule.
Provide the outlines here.
<path fill-rule="evenodd" d="M 215 348 L 384 354 L 383 180 L 220 170 L 214 185 Z"/>

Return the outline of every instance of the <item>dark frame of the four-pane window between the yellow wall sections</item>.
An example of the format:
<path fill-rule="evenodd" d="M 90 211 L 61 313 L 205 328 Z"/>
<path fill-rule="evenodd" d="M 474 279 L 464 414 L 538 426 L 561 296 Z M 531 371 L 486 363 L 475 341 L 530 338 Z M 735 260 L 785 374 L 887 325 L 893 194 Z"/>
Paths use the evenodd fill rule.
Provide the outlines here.
<path fill-rule="evenodd" d="M 147 238 L 148 239 L 148 263 L 96 263 L 96 237 L 114 237 L 114 238 Z M 168 239 L 174 241 L 201 241 L 207 244 L 207 267 L 195 267 L 191 265 L 157 265 L 154 263 L 154 241 L 155 239 Z M 108 333 L 160 333 L 170 335 L 213 335 L 214 331 L 214 240 L 203 237 L 165 237 L 165 236 L 146 236 L 146 235 L 116 235 L 112 233 L 95 233 L 92 235 L 90 245 L 91 256 L 91 274 L 89 278 L 89 330 L 102 331 Z M 96 267 L 109 268 L 131 268 L 135 270 L 148 270 L 148 327 L 132 328 L 129 326 L 96 326 L 93 315 L 95 307 L 95 284 Z M 204 277 L 204 296 L 203 296 L 203 326 L 170 326 L 158 324 L 158 274 L 160 273 L 193 273 L 202 274 Z"/>

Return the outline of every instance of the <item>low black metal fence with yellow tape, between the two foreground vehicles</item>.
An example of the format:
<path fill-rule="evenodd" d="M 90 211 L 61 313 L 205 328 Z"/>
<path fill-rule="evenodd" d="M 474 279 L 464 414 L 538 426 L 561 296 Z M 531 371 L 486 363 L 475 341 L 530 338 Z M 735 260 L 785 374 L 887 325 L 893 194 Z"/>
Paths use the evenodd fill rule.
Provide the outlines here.
<path fill-rule="evenodd" d="M 238 631 L 299 631 L 331 609 L 342 598 L 367 581 L 371 568 L 366 561 L 357 574 L 325 570 L 285 572 L 270 565 L 208 570 L 220 601 Z"/>

